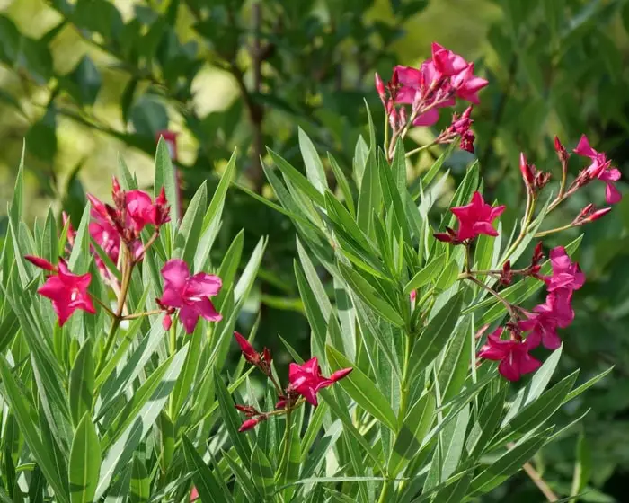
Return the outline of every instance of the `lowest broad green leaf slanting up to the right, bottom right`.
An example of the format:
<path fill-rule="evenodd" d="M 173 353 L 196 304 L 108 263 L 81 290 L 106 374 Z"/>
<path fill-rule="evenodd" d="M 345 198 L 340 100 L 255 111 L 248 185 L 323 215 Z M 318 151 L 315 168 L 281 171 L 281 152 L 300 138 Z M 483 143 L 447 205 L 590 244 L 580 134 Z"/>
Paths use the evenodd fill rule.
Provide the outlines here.
<path fill-rule="evenodd" d="M 468 496 L 477 497 L 501 485 L 513 473 L 518 472 L 520 467 L 544 445 L 544 442 L 545 435 L 535 435 L 502 454 L 491 466 L 474 478 L 470 488 L 472 492 L 468 492 Z"/>

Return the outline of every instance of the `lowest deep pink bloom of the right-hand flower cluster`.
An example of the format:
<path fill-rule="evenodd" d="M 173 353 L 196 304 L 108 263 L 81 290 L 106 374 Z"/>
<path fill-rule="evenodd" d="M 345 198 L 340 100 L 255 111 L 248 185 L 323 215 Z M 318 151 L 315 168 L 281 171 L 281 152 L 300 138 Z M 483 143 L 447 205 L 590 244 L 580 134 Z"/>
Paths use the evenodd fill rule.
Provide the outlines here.
<path fill-rule="evenodd" d="M 502 328 L 498 327 L 487 336 L 487 343 L 483 345 L 478 356 L 493 361 L 500 361 L 498 372 L 509 379 L 518 381 L 520 376 L 535 372 L 542 363 L 528 354 L 533 349 L 527 340 L 501 340 Z"/>

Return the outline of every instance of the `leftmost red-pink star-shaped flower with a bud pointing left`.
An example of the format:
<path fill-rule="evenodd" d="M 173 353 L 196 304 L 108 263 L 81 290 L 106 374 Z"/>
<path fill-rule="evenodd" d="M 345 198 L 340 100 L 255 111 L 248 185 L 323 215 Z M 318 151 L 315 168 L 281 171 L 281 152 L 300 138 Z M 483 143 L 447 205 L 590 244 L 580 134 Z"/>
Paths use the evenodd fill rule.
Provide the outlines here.
<path fill-rule="evenodd" d="M 87 293 L 87 287 L 92 281 L 92 275 L 89 272 L 83 275 L 74 274 L 67 269 L 66 260 L 63 259 L 59 260 L 57 268 L 39 257 L 27 256 L 26 259 L 41 269 L 56 273 L 49 276 L 37 293 L 52 301 L 52 308 L 57 313 L 60 327 L 77 309 L 86 313 L 96 313 L 92 299 Z"/>

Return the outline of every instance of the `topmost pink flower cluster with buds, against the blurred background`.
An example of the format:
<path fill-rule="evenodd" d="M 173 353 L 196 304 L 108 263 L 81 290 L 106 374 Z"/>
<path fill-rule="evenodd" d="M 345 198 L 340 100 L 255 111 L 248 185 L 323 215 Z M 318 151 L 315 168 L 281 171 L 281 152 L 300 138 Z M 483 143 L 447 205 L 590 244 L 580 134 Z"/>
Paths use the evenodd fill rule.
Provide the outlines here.
<path fill-rule="evenodd" d="M 432 57 L 419 68 L 395 66 L 391 80 L 385 84 L 376 75 L 376 88 L 393 131 L 393 141 L 405 137 L 411 126 L 432 126 L 439 119 L 439 109 L 453 107 L 456 99 L 478 104 L 478 92 L 488 82 L 474 75 L 474 63 L 432 44 Z M 469 107 L 461 116 L 453 115 L 452 124 L 435 140 L 436 144 L 451 143 L 460 137 L 460 146 L 474 152 L 474 133 Z M 391 152 L 389 152 L 391 154 Z"/>

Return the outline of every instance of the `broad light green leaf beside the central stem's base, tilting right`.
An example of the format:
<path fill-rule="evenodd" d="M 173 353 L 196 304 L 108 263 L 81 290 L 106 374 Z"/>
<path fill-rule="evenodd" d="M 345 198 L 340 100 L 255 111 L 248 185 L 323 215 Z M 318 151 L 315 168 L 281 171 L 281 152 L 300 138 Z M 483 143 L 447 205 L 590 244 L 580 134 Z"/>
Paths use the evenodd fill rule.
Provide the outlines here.
<path fill-rule="evenodd" d="M 432 393 L 426 393 L 406 414 L 389 457 L 387 470 L 390 477 L 395 477 L 420 452 L 432 424 L 435 404 Z"/>

